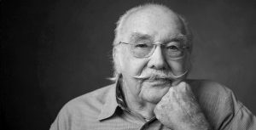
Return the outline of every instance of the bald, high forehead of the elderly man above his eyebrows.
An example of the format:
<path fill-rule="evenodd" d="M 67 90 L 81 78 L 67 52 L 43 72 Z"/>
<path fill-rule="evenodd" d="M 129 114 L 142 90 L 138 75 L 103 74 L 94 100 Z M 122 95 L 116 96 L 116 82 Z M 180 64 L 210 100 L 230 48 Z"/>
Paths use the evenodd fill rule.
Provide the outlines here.
<path fill-rule="evenodd" d="M 152 10 L 153 9 L 153 10 Z M 183 24 L 177 14 L 161 9 L 147 9 L 131 14 L 125 21 L 123 32 L 126 37 L 152 38 L 157 35 L 169 37 L 182 33 Z"/>

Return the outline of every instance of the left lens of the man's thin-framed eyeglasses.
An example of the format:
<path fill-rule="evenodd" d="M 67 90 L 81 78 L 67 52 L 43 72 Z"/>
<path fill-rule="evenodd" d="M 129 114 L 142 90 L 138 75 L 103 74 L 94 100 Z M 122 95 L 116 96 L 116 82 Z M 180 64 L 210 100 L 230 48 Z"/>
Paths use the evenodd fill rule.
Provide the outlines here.
<path fill-rule="evenodd" d="M 151 42 L 140 42 L 131 46 L 132 54 L 137 58 L 147 57 L 154 45 Z"/>

